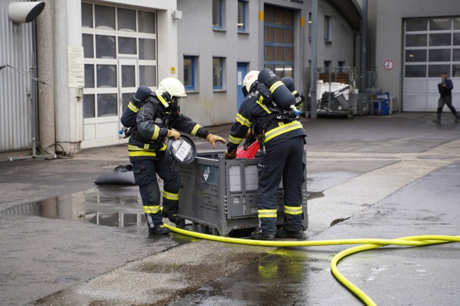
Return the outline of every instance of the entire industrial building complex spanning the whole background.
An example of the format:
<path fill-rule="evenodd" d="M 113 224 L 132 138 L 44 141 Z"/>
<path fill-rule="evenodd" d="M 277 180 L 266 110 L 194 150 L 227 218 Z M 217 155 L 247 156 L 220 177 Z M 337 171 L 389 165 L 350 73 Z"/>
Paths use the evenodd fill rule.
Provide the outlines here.
<path fill-rule="evenodd" d="M 403 111 L 434 111 L 439 70 L 459 71 L 454 0 L 45 0 L 33 20 L 12 16 L 18 3 L 0 2 L 0 158 L 126 143 L 123 109 L 164 77 L 211 126 L 234 121 L 244 75 L 263 67 L 307 96 L 319 71 L 348 72 L 356 92 L 376 72 Z"/>

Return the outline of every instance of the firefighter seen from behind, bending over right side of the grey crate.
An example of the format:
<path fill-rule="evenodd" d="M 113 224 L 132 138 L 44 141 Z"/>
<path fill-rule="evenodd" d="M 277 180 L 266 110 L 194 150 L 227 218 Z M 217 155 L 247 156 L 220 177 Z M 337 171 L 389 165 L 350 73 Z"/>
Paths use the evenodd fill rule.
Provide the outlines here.
<path fill-rule="evenodd" d="M 248 94 L 236 114 L 236 121 L 231 126 L 225 158 L 235 157 L 236 148 L 246 136 L 248 129 L 251 129 L 251 133 L 263 142 L 261 148 L 265 148 L 265 153 L 260 155 L 257 165 L 259 226 L 258 230 L 251 234 L 251 239 L 302 239 L 302 183 L 305 182 L 303 151 L 307 134 L 299 121 L 277 119 L 276 112 L 261 102 L 263 93 L 259 90 L 261 87 L 254 75 L 255 72 L 249 72 L 243 80 L 243 87 Z M 284 221 L 283 228 L 277 229 L 276 206 L 282 179 Z"/>

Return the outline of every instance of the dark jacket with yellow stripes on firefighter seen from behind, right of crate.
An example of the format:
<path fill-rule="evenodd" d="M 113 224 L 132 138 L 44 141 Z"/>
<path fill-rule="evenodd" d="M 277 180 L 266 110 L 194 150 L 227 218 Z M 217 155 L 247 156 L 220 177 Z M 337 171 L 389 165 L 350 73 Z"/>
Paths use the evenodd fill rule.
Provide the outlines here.
<path fill-rule="evenodd" d="M 300 121 L 278 119 L 279 111 L 281 110 L 277 111 L 263 104 L 263 97 L 257 90 L 250 92 L 243 100 L 231 126 L 227 151 L 230 153 L 238 148 L 248 129 L 265 146 L 282 143 L 297 136 L 307 136 Z"/>

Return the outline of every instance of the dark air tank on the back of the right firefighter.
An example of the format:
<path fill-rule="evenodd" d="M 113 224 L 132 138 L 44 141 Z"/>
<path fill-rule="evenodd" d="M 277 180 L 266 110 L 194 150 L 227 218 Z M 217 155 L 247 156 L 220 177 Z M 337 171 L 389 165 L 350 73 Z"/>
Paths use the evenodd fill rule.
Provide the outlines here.
<path fill-rule="evenodd" d="M 273 100 L 281 109 L 294 111 L 292 109 L 295 108 L 294 95 L 272 70 L 268 68 L 261 70 L 258 75 L 258 82 L 265 84 L 270 89 L 270 92 L 273 94 Z M 295 110 L 298 111 L 297 109 Z"/>

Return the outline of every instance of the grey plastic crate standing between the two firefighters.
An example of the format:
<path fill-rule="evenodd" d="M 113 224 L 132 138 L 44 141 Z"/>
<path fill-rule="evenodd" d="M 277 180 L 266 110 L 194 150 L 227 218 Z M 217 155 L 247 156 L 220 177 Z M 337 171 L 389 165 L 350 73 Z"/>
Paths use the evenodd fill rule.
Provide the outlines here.
<path fill-rule="evenodd" d="M 306 158 L 304 151 L 304 164 Z M 177 215 L 192 222 L 192 231 L 206 234 L 228 236 L 234 229 L 256 227 L 257 164 L 258 158 L 225 160 L 224 152 L 217 151 L 197 153 L 190 164 L 177 163 L 182 180 Z M 306 181 L 302 198 L 302 223 L 307 227 Z M 283 224 L 283 184 L 278 191 L 277 210 L 278 224 Z"/>

